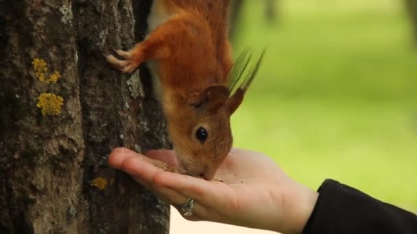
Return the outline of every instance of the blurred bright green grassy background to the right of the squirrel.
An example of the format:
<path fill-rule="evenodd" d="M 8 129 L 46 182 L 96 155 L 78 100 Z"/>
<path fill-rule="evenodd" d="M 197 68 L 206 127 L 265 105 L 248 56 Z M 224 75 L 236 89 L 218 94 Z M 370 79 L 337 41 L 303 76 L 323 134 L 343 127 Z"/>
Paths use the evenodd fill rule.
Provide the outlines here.
<path fill-rule="evenodd" d="M 235 54 L 265 62 L 232 119 L 235 146 L 261 151 L 316 190 L 326 178 L 417 212 L 417 47 L 399 0 L 245 1 Z"/>

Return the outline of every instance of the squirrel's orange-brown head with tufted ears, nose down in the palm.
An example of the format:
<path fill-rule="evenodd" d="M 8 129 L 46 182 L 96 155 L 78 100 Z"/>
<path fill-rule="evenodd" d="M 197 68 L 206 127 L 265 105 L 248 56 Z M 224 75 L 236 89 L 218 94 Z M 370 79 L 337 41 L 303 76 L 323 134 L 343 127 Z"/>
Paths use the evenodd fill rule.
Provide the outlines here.
<path fill-rule="evenodd" d="M 178 106 L 165 109 L 176 156 L 187 174 L 213 179 L 232 148 L 230 116 L 242 103 L 262 60 L 263 54 L 237 86 L 250 62 L 248 51 L 242 53 L 230 72 L 228 86 L 208 86 L 189 93 L 176 102 Z M 234 89 L 235 92 L 230 95 Z"/>

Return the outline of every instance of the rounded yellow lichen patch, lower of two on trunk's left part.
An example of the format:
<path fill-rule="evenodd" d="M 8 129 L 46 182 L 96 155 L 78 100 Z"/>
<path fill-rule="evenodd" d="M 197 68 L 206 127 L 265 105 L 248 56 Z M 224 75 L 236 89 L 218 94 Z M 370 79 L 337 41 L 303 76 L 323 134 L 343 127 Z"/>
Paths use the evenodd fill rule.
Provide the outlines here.
<path fill-rule="evenodd" d="M 38 96 L 36 106 L 42 110 L 43 116 L 58 116 L 61 114 L 61 107 L 64 98 L 56 94 L 43 93 Z"/>

